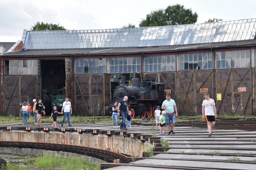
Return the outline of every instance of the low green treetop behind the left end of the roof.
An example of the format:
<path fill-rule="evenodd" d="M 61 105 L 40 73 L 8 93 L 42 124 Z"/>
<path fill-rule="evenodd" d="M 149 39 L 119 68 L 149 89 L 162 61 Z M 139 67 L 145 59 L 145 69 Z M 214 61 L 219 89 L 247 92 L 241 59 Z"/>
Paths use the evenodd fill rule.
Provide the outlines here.
<path fill-rule="evenodd" d="M 48 30 L 67 30 L 64 26 L 59 24 L 52 24 L 52 23 L 35 23 L 34 26 L 31 26 L 30 31 L 48 31 Z"/>

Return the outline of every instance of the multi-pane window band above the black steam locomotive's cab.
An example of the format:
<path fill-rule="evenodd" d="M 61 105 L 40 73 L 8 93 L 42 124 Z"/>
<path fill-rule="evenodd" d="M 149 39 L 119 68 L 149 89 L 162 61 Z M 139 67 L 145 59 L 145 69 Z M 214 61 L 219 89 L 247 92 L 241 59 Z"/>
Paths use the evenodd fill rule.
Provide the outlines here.
<path fill-rule="evenodd" d="M 144 57 L 144 72 L 176 71 L 176 55 Z"/>

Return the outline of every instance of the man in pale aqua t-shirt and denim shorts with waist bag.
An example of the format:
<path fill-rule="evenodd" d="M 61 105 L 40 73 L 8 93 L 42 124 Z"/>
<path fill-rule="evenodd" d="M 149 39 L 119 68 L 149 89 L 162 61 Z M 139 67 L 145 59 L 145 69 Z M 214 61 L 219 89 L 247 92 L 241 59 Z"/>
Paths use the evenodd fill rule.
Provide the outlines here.
<path fill-rule="evenodd" d="M 178 116 L 177 106 L 174 100 L 171 99 L 171 96 L 169 94 L 166 95 L 166 100 L 162 104 L 162 109 L 165 110 L 165 118 L 166 118 L 166 126 L 168 129 L 168 134 L 175 134 L 173 132 L 173 128 L 175 125 L 175 118 Z M 174 114 L 174 110 L 175 113 Z M 170 128 L 171 123 L 171 128 Z"/>

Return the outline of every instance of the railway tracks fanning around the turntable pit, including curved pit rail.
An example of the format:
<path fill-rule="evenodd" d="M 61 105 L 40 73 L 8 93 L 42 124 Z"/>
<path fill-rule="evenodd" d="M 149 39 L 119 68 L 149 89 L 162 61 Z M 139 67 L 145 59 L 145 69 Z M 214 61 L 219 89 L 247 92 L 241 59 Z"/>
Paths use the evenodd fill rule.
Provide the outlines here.
<path fill-rule="evenodd" d="M 47 143 L 38 145 L 38 143 L 26 142 L 0 142 L 0 147 L 41 148 L 92 156 L 106 161 L 106 163 L 101 163 L 101 169 L 256 169 L 256 121 L 253 118 L 247 120 L 219 119 L 213 129 L 214 136 L 212 137 L 207 136 L 205 122 L 177 123 L 174 128 L 176 134 L 165 136 L 158 135 L 153 125 L 155 123 L 134 123 L 132 130 L 122 131 L 124 136 L 129 137 L 133 134 L 135 138 L 142 139 L 144 142 L 154 142 L 156 145 L 153 151 L 154 156 L 150 158 L 145 157 L 145 152 L 143 152 L 144 157 L 131 157 L 108 150 Z M 4 128 L 3 125 L 1 126 L 0 130 Z M 47 126 L 42 124 L 41 129 Z M 87 127 L 88 125 L 74 125 L 67 131 L 75 131 L 76 126 Z M 94 124 L 83 131 L 89 133 L 95 127 L 98 128 L 99 134 L 106 134 L 111 129 L 111 135 L 120 135 L 119 129 L 102 124 L 100 128 Z M 24 127 L 16 126 L 13 129 L 23 130 Z M 34 129 L 40 128 L 34 127 Z M 59 131 L 59 128 L 52 130 Z M 168 139 L 168 147 L 162 147 L 161 137 Z M 113 163 L 116 159 L 120 159 L 120 163 Z M 118 168 L 118 166 L 122 167 Z"/>

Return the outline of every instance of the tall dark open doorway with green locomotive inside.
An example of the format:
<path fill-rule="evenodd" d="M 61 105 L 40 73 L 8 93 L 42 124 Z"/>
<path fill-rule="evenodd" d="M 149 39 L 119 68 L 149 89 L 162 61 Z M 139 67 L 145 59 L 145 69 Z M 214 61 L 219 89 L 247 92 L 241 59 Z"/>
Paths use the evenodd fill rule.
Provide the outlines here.
<path fill-rule="evenodd" d="M 46 107 L 46 113 L 50 113 L 53 105 L 61 111 L 65 101 L 65 60 L 41 60 L 41 96 Z"/>

